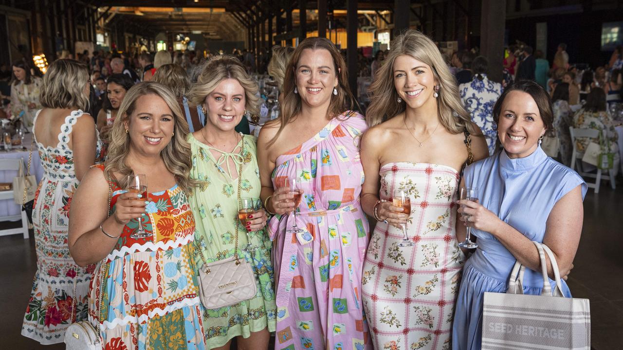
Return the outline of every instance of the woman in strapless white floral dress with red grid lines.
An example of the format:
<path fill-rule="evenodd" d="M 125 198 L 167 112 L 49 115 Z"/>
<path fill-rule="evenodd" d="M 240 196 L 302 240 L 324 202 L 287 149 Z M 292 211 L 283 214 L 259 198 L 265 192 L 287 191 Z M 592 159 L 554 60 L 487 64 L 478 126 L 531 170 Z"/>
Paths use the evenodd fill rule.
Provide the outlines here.
<path fill-rule="evenodd" d="M 459 170 L 488 156 L 434 43 L 407 31 L 371 85 L 361 142 L 363 209 L 378 220 L 363 268 L 363 305 L 376 349 L 450 349 L 464 260 L 455 237 Z M 383 121 L 383 122 L 382 122 Z M 392 205 L 400 189 L 411 213 Z M 401 247 L 402 228 L 414 245 Z"/>

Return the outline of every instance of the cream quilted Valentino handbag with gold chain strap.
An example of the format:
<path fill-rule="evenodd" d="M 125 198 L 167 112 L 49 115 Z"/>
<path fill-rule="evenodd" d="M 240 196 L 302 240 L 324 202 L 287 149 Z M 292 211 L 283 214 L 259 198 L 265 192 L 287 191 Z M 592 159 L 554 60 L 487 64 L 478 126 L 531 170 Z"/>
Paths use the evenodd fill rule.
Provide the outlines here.
<path fill-rule="evenodd" d="M 244 135 L 240 146 L 240 156 L 244 151 Z M 244 158 L 244 157 L 243 157 Z M 242 191 L 242 164 L 238 167 L 238 200 Z M 236 217 L 237 220 L 237 217 Z M 207 263 L 201 248 L 199 255 L 203 266 L 199 269 L 199 298 L 207 309 L 217 309 L 231 306 L 253 298 L 257 293 L 255 277 L 250 263 L 238 256 L 238 222 L 235 222 L 234 256 Z"/>

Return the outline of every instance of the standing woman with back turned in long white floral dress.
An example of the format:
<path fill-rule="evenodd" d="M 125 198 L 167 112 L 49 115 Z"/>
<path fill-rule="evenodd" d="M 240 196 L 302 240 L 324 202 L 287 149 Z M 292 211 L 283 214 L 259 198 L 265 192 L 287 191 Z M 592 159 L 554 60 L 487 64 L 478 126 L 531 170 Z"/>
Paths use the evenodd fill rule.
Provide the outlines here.
<path fill-rule="evenodd" d="M 95 267 L 75 264 L 67 247 L 67 230 L 72 195 L 88 168 L 100 160 L 102 144 L 95 122 L 82 111 L 87 108 L 89 91 L 86 64 L 70 59 L 54 61 L 41 86 L 43 109 L 34 120 L 44 176 L 32 210 L 37 273 L 22 335 L 41 344 L 64 341 L 74 313 L 72 301 L 77 310 L 75 319 L 87 318 L 88 283 Z"/>

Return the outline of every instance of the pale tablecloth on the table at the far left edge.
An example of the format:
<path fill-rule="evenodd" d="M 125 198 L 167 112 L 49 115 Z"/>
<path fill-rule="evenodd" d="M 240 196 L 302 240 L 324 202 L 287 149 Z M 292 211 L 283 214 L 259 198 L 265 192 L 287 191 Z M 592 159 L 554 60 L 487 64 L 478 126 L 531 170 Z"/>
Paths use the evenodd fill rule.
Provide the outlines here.
<path fill-rule="evenodd" d="M 30 149 L 32 141 L 32 133 L 26 134 L 24 138 L 24 145 Z M 19 147 L 19 146 L 17 146 Z M 13 149 L 10 152 L 0 151 L 0 159 L 24 159 L 24 171 L 27 170 L 28 166 L 28 154 L 29 150 L 23 149 Z M 31 162 L 31 175 L 34 175 L 37 178 L 37 182 L 41 181 L 43 177 L 43 167 L 41 166 L 41 161 L 39 159 L 39 152 L 37 151 L 36 145 L 32 151 L 32 162 Z M 17 176 L 17 171 L 0 171 L 0 182 L 13 182 L 13 177 Z M 0 201 L 0 217 L 10 216 L 10 215 L 20 215 L 21 207 L 15 204 L 12 199 L 6 199 L 4 201 Z"/>

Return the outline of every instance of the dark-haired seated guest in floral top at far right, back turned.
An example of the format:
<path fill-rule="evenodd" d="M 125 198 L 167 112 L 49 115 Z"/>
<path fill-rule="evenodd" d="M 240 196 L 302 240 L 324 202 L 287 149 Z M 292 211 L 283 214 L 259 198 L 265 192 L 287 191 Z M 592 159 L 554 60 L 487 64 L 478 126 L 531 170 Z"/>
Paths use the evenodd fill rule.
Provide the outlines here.
<path fill-rule="evenodd" d="M 573 127 L 599 130 L 599 138 L 576 138 L 576 149 L 584 153 L 591 142 L 601 146 L 602 153 L 614 153 L 614 163 L 619 163 L 619 134 L 614 129 L 614 123 L 606 111 L 606 93 L 602 88 L 593 88 L 586 98 L 584 106 L 573 115 Z M 602 140 L 604 130 L 607 140 Z M 612 170 L 617 171 L 614 166 Z"/>

